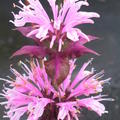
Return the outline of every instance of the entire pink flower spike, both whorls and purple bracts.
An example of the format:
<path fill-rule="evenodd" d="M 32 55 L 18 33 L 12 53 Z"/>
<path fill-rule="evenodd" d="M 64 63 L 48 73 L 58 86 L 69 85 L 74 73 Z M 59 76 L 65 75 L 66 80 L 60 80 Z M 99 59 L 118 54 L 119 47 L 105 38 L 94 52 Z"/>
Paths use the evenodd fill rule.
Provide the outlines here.
<path fill-rule="evenodd" d="M 29 55 L 28 65 L 20 61 L 22 74 L 10 67 L 14 77 L 2 79 L 6 82 L 0 96 L 6 99 L 6 115 L 10 120 L 79 120 L 81 109 L 87 108 L 99 116 L 107 113 L 101 101 L 112 101 L 101 95 L 104 71 L 96 73 L 86 70 L 91 63 L 83 64 L 72 80 L 75 61 L 86 53 L 99 55 L 85 47 L 87 42 L 98 39 L 86 35 L 78 25 L 93 24 L 92 18 L 100 17 L 95 12 L 81 11 L 89 6 L 87 0 L 47 0 L 52 18 L 39 0 L 19 0 L 14 4 L 20 11 L 12 22 L 16 30 L 31 38 L 35 45 L 26 45 L 11 57 Z M 57 4 L 58 3 L 58 4 Z"/>

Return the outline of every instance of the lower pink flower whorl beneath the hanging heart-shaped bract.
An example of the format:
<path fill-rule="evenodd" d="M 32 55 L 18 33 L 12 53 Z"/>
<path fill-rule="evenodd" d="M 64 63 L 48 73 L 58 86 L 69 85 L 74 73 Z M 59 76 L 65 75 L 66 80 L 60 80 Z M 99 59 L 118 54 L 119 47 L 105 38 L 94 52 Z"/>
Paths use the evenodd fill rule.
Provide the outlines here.
<path fill-rule="evenodd" d="M 79 120 L 78 114 L 83 107 L 95 111 L 99 116 L 107 113 L 101 101 L 112 99 L 98 93 L 102 92 L 102 85 L 110 79 L 102 80 L 103 71 L 94 73 L 93 69 L 85 70 L 89 61 L 72 81 L 74 63 L 75 61 L 69 62 L 69 74 L 59 86 L 53 85 L 47 76 L 44 62 L 39 64 L 38 60 L 32 60 L 30 68 L 21 62 L 25 72 L 23 74 L 11 68 L 15 78 L 11 78 L 12 81 L 2 79 L 9 87 L 4 86 L 3 93 L 0 94 L 7 99 L 1 103 L 7 109 L 5 117 L 20 120 L 26 115 L 27 120 Z"/>

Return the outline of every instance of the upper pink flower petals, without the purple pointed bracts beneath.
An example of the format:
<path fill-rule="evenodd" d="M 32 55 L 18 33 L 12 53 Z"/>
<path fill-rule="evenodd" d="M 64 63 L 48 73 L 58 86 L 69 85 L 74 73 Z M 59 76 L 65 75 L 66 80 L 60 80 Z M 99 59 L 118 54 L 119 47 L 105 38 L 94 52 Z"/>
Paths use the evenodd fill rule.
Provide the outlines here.
<path fill-rule="evenodd" d="M 27 1 L 27 5 L 21 0 L 19 0 L 21 6 L 14 4 L 20 11 L 18 14 L 13 13 L 15 20 L 11 20 L 11 22 L 18 27 L 17 30 L 26 37 L 34 40 L 37 39 L 38 42 L 49 40 L 50 48 L 52 48 L 54 44 L 57 44 L 57 50 L 59 52 L 67 40 L 69 42 L 90 41 L 89 36 L 84 34 L 76 26 L 86 23 L 93 24 L 94 21 L 91 18 L 100 17 L 99 14 L 95 12 L 79 11 L 83 5 L 89 6 L 86 0 L 65 0 L 63 5 L 60 5 L 60 10 L 58 9 L 56 0 L 48 0 L 52 8 L 52 19 L 49 18 L 39 0 Z"/>

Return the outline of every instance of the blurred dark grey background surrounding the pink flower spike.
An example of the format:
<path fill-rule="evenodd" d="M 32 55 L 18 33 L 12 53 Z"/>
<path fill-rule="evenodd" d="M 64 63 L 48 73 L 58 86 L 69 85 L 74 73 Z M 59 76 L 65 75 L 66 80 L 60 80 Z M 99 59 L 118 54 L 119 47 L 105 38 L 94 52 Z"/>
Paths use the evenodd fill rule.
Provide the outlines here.
<path fill-rule="evenodd" d="M 11 54 L 25 44 L 32 41 L 14 31 L 14 26 L 9 23 L 13 19 L 13 2 L 18 0 L 0 0 L 0 77 L 10 75 L 10 64 L 16 64 L 23 57 L 9 59 Z M 47 9 L 46 0 L 40 0 Z M 120 0 L 88 0 L 90 7 L 82 10 L 95 11 L 101 15 L 95 19 L 94 25 L 82 25 L 80 28 L 87 34 L 100 37 L 100 40 L 87 44 L 89 48 L 96 50 L 101 56 L 86 55 L 77 61 L 80 67 L 83 62 L 94 58 L 92 66 L 97 71 L 105 70 L 105 78 L 112 77 L 110 86 L 105 85 L 104 93 L 115 99 L 114 102 L 104 102 L 108 114 L 102 117 L 94 112 L 82 111 L 80 120 L 120 120 Z M 78 67 L 78 68 L 79 68 Z M 77 69 L 78 70 L 78 69 Z M 76 70 L 76 71 L 77 71 Z M 3 81 L 0 81 L 2 90 Z M 4 108 L 0 106 L 0 120 L 3 120 Z M 7 119 L 5 119 L 7 120 Z"/>

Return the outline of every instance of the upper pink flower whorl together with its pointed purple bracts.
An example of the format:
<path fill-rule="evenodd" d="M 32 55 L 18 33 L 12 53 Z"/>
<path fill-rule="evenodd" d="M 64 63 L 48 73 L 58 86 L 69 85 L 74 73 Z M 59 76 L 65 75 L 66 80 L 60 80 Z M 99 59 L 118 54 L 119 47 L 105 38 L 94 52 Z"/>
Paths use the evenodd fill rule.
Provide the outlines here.
<path fill-rule="evenodd" d="M 37 43 L 37 46 L 24 46 L 13 56 L 32 54 L 33 56 L 44 57 L 46 54 L 51 55 L 51 53 L 55 54 L 55 52 L 61 51 L 64 57 L 76 57 L 85 53 L 97 54 L 84 46 L 86 42 L 95 40 L 97 37 L 86 35 L 77 28 L 81 24 L 93 24 L 94 21 L 91 18 L 100 17 L 95 12 L 80 11 L 83 5 L 89 6 L 88 2 L 64 0 L 58 6 L 56 0 L 47 1 L 52 9 L 52 19 L 48 16 L 39 0 L 27 0 L 27 5 L 19 0 L 19 6 L 14 4 L 14 7 L 17 7 L 20 11 L 18 14 L 13 13 L 15 19 L 14 21 L 10 20 L 10 22 L 24 36 L 32 38 Z M 51 50 L 51 48 L 53 49 Z M 71 48 L 71 51 L 69 48 Z"/>

